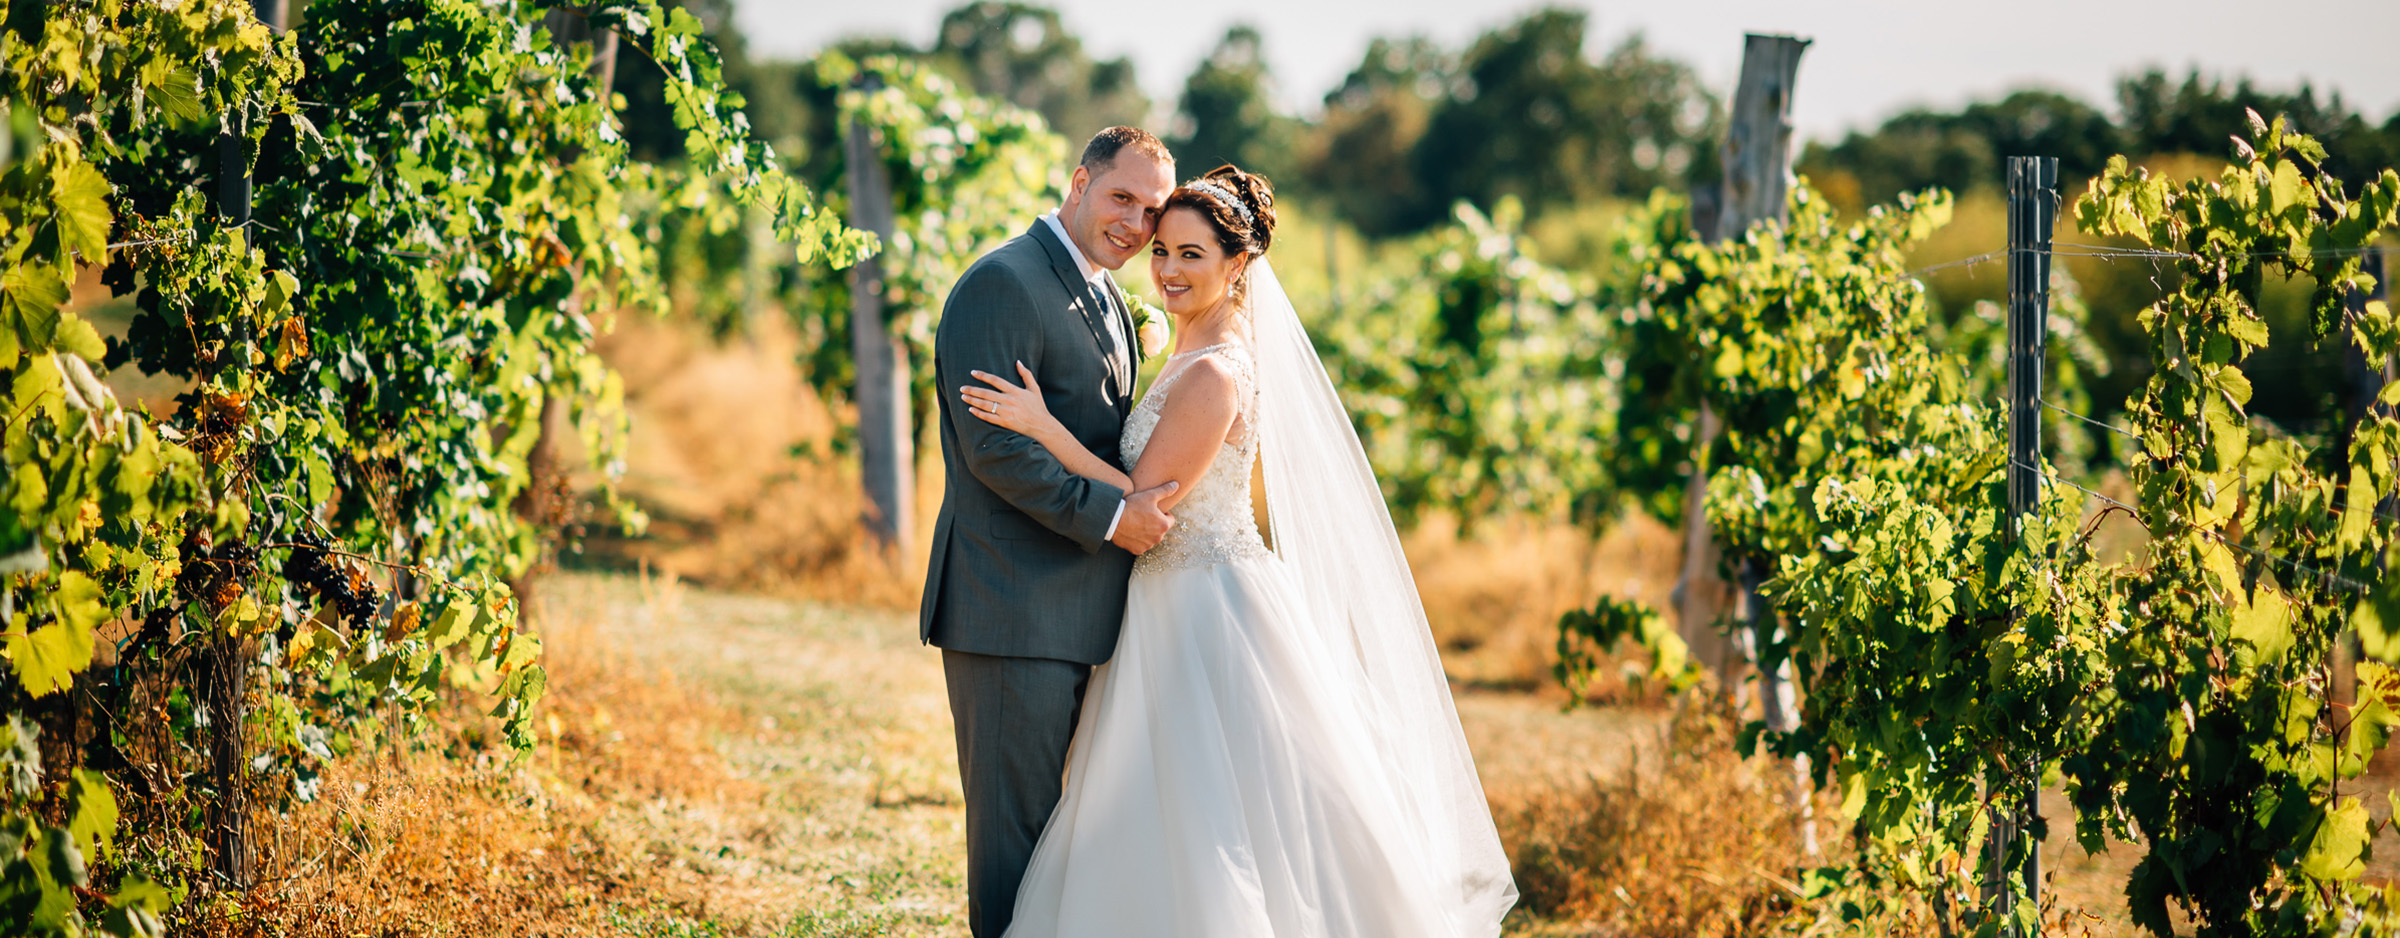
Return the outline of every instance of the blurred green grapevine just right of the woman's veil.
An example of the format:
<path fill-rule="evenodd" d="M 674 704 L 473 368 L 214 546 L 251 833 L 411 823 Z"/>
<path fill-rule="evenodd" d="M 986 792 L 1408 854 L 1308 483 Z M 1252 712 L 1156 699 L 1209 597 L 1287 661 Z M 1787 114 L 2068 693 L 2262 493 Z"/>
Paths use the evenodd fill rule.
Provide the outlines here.
<path fill-rule="evenodd" d="M 1402 254 L 1356 309 L 1308 309 L 1392 511 L 1610 516 L 1630 353 L 1594 285 L 1526 257 L 1514 202 Z"/>

